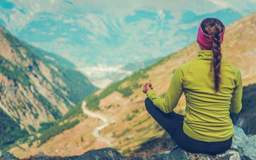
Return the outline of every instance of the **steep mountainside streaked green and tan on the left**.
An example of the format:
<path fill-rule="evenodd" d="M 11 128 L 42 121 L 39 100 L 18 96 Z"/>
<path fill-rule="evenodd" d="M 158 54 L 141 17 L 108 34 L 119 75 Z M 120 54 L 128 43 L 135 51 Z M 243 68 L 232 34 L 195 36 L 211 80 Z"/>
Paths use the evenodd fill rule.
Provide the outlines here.
<path fill-rule="evenodd" d="M 0 41 L 0 149 L 24 142 L 97 89 L 80 72 L 40 58 L 3 26 Z"/>

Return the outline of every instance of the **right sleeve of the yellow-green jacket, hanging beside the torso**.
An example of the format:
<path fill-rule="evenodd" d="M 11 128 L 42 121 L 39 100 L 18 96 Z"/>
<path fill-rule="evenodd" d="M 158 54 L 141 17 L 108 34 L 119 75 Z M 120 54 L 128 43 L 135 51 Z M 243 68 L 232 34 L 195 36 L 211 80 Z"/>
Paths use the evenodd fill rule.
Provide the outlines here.
<path fill-rule="evenodd" d="M 236 81 L 236 88 L 234 89 L 233 96 L 231 98 L 231 104 L 229 111 L 231 113 L 239 113 L 242 108 L 242 92 L 243 92 L 243 85 L 242 85 L 242 76 L 241 72 L 237 73 L 237 81 Z"/>

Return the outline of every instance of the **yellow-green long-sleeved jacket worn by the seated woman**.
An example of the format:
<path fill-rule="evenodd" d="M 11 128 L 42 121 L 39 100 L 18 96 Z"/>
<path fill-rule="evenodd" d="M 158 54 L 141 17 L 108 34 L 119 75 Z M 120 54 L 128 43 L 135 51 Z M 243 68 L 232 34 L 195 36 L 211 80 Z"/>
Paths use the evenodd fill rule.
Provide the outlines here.
<path fill-rule="evenodd" d="M 197 58 L 178 66 L 164 98 L 159 97 L 155 90 L 148 90 L 146 93 L 156 107 L 169 113 L 177 106 L 184 92 L 184 133 L 206 142 L 231 138 L 234 125 L 229 112 L 237 114 L 242 108 L 243 85 L 240 70 L 221 60 L 220 89 L 215 93 L 213 78 L 209 74 L 211 59 L 210 50 L 200 50 Z"/>

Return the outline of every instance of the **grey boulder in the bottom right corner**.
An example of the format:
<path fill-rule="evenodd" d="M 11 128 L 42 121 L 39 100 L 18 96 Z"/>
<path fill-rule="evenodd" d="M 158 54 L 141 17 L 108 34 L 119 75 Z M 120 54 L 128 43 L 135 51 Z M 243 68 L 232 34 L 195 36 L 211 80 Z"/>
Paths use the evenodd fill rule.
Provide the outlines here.
<path fill-rule="evenodd" d="M 256 135 L 238 144 L 238 152 L 243 160 L 256 159 Z"/>

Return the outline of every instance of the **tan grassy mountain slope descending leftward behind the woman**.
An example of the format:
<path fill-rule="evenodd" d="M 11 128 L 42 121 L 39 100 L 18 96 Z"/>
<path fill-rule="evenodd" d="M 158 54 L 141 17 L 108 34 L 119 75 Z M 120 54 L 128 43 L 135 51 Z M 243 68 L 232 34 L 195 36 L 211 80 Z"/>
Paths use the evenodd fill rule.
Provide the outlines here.
<path fill-rule="evenodd" d="M 255 33 L 256 13 L 228 25 L 222 44 L 223 60 L 227 60 L 240 69 L 245 87 L 256 83 Z M 84 150 L 109 146 L 108 143 L 96 138 L 95 133 L 100 130 L 99 135 L 101 138 L 110 141 L 112 148 L 123 155 L 129 155 L 133 150 L 139 149 L 142 144 L 160 138 L 164 134 L 163 128 L 155 122 L 145 109 L 144 100 L 146 95 L 142 92 L 142 86 L 150 81 L 158 95 L 164 96 L 177 66 L 196 58 L 198 51 L 198 44 L 193 43 L 85 98 L 84 103 L 80 104 L 84 113 L 89 113 L 87 109 L 91 109 L 93 114 L 100 114 L 107 119 L 106 121 L 102 122 L 99 118 L 95 118 L 93 114 L 87 114 L 88 117 L 82 121 L 80 114 L 80 116 L 77 116 L 77 118 L 80 118 L 80 123 L 72 129 L 63 131 L 62 134 L 53 135 L 49 138 L 50 140 L 45 141 L 40 147 L 37 147 L 37 143 L 40 143 L 39 140 L 34 141 L 30 147 L 27 147 L 26 143 L 20 145 L 20 147 L 32 154 L 38 153 L 39 150 L 44 150 L 46 154 L 50 155 L 60 155 L 67 153 L 67 151 L 69 155 L 83 154 Z M 253 89 L 250 86 L 244 89 L 245 92 L 248 91 L 248 94 L 244 94 L 243 104 L 245 106 L 247 105 L 245 101 L 250 100 L 250 97 L 253 98 L 250 94 L 254 92 L 250 92 L 249 88 Z M 248 98 L 246 99 L 246 97 Z M 249 104 L 255 107 L 253 101 Z M 184 114 L 184 109 L 185 96 L 183 94 L 174 111 Z M 81 109 L 79 113 L 81 113 Z M 248 111 L 247 115 L 251 116 L 249 113 Z M 244 117 L 246 116 L 244 115 Z M 75 118 L 76 116 L 69 119 Z M 253 122 L 253 118 L 250 122 Z M 99 129 L 98 126 L 105 127 Z M 249 129 L 251 132 L 253 131 L 252 128 Z M 54 131 L 54 127 L 48 130 L 48 132 L 50 131 Z M 66 141 L 62 141 L 64 138 Z M 49 150 L 48 148 L 52 149 Z M 24 150 L 13 147 L 9 151 L 24 157 L 26 156 Z"/>

